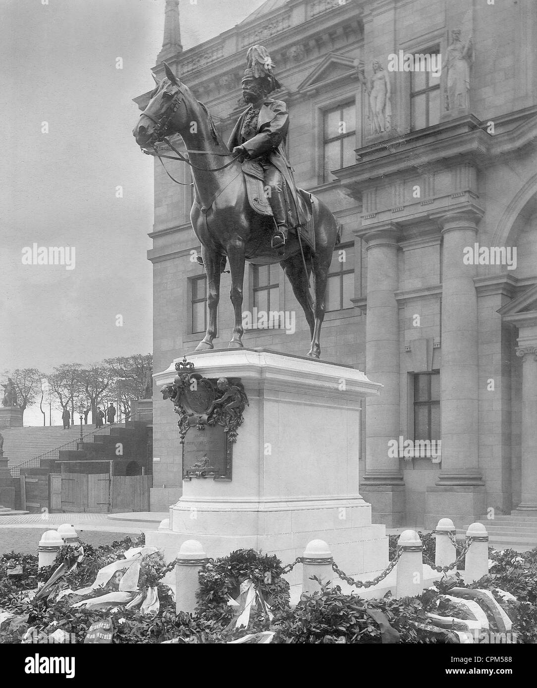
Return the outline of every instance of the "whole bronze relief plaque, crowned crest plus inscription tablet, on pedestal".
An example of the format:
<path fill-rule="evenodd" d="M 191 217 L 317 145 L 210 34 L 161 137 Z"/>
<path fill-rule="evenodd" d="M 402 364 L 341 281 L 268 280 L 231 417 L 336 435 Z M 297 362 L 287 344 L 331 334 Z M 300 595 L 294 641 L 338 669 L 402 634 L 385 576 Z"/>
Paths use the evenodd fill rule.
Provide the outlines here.
<path fill-rule="evenodd" d="M 231 480 L 233 442 L 248 404 L 244 387 L 235 378 L 204 378 L 186 358 L 176 370 L 161 391 L 180 417 L 183 480 Z"/>

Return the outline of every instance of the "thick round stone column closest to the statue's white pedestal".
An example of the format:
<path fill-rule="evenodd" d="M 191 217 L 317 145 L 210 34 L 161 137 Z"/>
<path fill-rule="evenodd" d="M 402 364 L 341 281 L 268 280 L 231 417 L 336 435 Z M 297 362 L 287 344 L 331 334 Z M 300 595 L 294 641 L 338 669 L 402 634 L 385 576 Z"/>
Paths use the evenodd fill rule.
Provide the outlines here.
<path fill-rule="evenodd" d="M 405 518 L 399 457 L 388 456 L 388 442 L 400 434 L 397 235 L 392 222 L 362 235 L 368 252 L 366 374 L 383 389 L 366 401 L 366 472 L 361 494 L 372 504 L 373 520 L 392 528 L 403 525 Z"/>

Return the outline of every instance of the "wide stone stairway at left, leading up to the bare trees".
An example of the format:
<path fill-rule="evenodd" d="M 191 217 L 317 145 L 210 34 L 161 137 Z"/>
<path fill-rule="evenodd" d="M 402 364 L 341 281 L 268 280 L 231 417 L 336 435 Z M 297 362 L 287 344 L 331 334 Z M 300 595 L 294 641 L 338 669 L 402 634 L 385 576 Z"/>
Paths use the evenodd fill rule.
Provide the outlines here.
<path fill-rule="evenodd" d="M 92 432 L 94 425 L 83 425 L 83 433 Z M 45 427 L 3 428 L 3 453 L 8 458 L 8 468 L 17 466 L 45 451 L 76 440 L 80 436 L 80 425 L 64 430 L 62 425 Z"/>

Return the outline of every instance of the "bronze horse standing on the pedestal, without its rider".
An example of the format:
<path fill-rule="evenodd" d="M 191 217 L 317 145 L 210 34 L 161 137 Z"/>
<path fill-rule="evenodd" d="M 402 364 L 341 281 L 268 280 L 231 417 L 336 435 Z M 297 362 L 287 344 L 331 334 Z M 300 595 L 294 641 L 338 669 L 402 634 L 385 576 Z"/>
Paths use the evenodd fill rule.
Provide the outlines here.
<path fill-rule="evenodd" d="M 242 347 L 242 283 L 245 261 L 256 265 L 280 263 L 291 282 L 310 327 L 311 346 L 308 356 L 319 358 L 321 325 L 324 319 L 324 295 L 328 270 L 340 228 L 326 205 L 312 195 L 315 252 L 300 244 L 297 233 L 289 234 L 283 253 L 271 248 L 273 218 L 255 213 L 249 204 L 240 161 L 231 154 L 216 131 L 209 112 L 191 90 L 165 64 L 166 78 L 154 76 L 156 88 L 140 115 L 133 134 L 145 151 L 156 142 L 180 134 L 188 159 L 180 157 L 192 169 L 195 200 L 190 211 L 194 233 L 202 246 L 202 259 L 207 272 L 207 305 L 209 324 L 196 351 L 213 349 L 216 336 L 216 312 L 220 298 L 220 274 L 226 256 L 231 271 L 231 303 L 235 327 L 230 348 Z M 171 145 L 181 155 L 180 151 Z M 162 160 L 161 160 L 162 162 Z M 175 181 L 175 180 L 174 180 Z M 313 271 L 315 306 L 309 290 Z"/>

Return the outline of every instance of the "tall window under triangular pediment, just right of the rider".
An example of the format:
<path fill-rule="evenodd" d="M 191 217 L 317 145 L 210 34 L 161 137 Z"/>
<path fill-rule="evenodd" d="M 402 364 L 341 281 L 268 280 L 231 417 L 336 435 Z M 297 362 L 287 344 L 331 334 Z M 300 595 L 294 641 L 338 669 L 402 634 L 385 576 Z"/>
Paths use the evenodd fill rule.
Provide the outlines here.
<path fill-rule="evenodd" d="M 324 111 L 324 166 L 323 179 L 331 182 L 332 170 L 355 164 L 356 105 L 354 102 L 338 105 Z"/>

